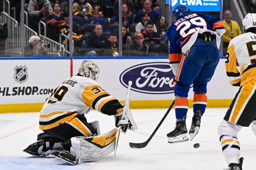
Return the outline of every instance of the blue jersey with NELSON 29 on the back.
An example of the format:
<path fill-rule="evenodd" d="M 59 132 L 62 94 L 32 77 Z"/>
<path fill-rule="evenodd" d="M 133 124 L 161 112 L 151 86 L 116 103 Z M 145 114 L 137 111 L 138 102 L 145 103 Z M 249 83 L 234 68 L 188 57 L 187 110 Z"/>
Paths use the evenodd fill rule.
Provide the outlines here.
<path fill-rule="evenodd" d="M 198 33 L 206 31 L 216 34 L 216 43 L 219 48 L 220 36 L 226 32 L 220 18 L 203 13 L 193 13 L 173 23 L 167 31 L 170 64 L 180 63 L 182 52 L 186 53 L 189 50 L 196 41 Z"/>

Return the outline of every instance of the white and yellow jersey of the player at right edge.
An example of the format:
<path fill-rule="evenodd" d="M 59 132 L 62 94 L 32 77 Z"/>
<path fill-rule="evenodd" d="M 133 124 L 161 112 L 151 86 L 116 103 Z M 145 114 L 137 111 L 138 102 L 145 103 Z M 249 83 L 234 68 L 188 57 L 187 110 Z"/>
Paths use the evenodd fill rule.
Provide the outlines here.
<path fill-rule="evenodd" d="M 242 86 L 256 77 L 255 33 L 244 33 L 229 42 L 225 65 L 231 85 Z"/>

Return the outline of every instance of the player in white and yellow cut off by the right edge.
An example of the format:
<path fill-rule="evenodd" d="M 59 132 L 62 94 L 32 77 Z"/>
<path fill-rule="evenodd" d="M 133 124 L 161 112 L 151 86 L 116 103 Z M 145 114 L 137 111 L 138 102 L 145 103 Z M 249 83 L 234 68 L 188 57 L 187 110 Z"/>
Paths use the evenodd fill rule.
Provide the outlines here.
<path fill-rule="evenodd" d="M 243 29 L 244 34 L 229 42 L 225 62 L 229 83 L 240 86 L 218 127 L 226 170 L 242 170 L 238 132 L 251 124 L 256 135 L 256 14 L 245 16 Z"/>

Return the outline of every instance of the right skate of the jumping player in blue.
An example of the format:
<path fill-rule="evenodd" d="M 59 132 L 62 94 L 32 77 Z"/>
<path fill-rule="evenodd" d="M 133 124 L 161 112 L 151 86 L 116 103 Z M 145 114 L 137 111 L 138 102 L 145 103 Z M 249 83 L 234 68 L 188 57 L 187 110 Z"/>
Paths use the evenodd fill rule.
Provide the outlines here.
<path fill-rule="evenodd" d="M 201 115 L 202 115 L 202 111 L 196 110 L 196 114 L 192 117 L 192 123 L 189 130 L 190 140 L 194 139 L 194 137 L 197 135 L 199 131 L 200 123 L 201 123 Z"/>

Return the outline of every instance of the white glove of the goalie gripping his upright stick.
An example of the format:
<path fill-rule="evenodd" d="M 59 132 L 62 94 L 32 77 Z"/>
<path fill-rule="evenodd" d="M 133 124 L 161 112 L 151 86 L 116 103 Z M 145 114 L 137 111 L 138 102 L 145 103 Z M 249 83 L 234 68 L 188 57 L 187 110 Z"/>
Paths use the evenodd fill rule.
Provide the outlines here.
<path fill-rule="evenodd" d="M 122 133 L 126 133 L 128 129 L 131 129 L 131 124 L 128 117 L 124 114 L 124 119 L 122 119 L 122 115 L 124 112 L 118 113 L 115 115 L 115 125 L 116 127 L 121 127 Z"/>

